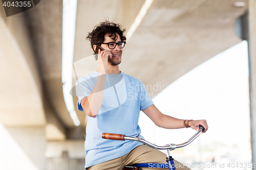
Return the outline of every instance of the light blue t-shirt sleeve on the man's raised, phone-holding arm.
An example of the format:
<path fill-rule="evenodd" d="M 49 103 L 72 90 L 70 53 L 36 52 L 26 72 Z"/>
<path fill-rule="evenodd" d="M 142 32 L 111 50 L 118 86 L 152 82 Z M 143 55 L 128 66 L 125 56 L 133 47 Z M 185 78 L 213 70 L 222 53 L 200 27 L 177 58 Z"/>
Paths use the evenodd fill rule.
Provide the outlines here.
<path fill-rule="evenodd" d="M 81 100 L 89 96 L 91 92 L 92 92 L 92 88 L 86 79 L 79 78 L 76 81 L 76 96 L 78 97 L 77 109 L 79 111 L 83 111 L 83 108 L 81 106 Z"/>

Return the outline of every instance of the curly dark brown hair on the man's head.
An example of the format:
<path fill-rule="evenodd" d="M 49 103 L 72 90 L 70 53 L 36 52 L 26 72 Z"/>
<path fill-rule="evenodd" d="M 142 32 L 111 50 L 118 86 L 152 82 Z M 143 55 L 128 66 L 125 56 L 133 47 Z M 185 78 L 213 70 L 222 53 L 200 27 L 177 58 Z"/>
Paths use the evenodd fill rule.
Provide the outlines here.
<path fill-rule="evenodd" d="M 106 20 L 104 22 L 100 22 L 99 25 L 96 25 L 93 31 L 88 33 L 86 39 L 91 41 L 91 47 L 93 49 L 93 45 L 100 45 L 104 42 L 106 34 L 109 34 L 109 37 L 112 37 L 114 41 L 116 41 L 118 34 L 121 40 L 125 41 L 126 37 L 123 35 L 124 32 L 125 29 L 122 29 L 120 23 L 114 23 Z"/>

